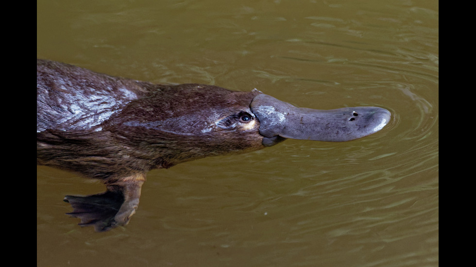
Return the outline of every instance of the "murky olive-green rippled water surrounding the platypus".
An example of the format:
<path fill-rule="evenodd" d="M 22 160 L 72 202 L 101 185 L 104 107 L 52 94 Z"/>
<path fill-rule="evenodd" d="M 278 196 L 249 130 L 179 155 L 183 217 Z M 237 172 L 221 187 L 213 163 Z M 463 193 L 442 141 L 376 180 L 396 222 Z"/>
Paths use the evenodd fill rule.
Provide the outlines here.
<path fill-rule="evenodd" d="M 437 1 L 41 1 L 37 57 L 156 83 L 391 110 L 351 142 L 288 140 L 148 174 L 130 224 L 65 215 L 101 183 L 37 167 L 37 266 L 438 266 Z"/>

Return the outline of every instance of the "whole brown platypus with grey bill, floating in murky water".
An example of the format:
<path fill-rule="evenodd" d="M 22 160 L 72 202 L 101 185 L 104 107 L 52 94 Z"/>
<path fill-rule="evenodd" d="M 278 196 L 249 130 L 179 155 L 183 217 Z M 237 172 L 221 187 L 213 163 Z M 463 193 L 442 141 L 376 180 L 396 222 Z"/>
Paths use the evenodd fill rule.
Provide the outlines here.
<path fill-rule="evenodd" d="M 104 193 L 65 197 L 69 214 L 96 231 L 129 222 L 152 169 L 286 139 L 350 141 L 390 118 L 378 107 L 297 108 L 256 89 L 153 84 L 36 60 L 36 163 L 102 180 Z"/>

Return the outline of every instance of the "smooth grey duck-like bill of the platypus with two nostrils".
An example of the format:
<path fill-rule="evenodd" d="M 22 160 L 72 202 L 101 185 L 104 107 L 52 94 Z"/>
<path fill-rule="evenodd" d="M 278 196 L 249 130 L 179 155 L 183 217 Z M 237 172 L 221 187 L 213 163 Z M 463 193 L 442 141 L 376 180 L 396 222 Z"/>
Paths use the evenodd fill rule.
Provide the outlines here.
<path fill-rule="evenodd" d="M 379 131 L 391 118 L 390 111 L 377 107 L 313 110 L 267 94 L 256 95 L 250 107 L 259 120 L 259 133 L 268 139 L 350 141 Z"/>

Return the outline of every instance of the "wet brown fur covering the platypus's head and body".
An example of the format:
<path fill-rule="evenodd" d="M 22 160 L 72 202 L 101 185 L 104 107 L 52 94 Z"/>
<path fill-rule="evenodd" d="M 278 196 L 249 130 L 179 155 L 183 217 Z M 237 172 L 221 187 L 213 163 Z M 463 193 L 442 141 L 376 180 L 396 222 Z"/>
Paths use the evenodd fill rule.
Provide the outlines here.
<path fill-rule="evenodd" d="M 37 60 L 36 94 L 37 164 L 106 182 L 263 148 L 256 118 L 252 129 L 226 127 L 256 91 L 157 85 Z"/>

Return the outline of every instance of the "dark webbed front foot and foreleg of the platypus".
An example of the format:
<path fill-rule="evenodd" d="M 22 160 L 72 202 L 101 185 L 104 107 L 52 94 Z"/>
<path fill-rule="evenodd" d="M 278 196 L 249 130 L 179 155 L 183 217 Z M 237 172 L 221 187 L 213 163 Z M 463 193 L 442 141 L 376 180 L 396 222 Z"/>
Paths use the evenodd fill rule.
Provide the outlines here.
<path fill-rule="evenodd" d="M 144 179 L 142 175 L 140 177 Z M 142 179 L 109 183 L 107 191 L 101 194 L 66 196 L 64 201 L 73 207 L 73 211 L 67 214 L 81 219 L 78 225 L 94 226 L 96 232 L 126 225 L 139 205 Z"/>

